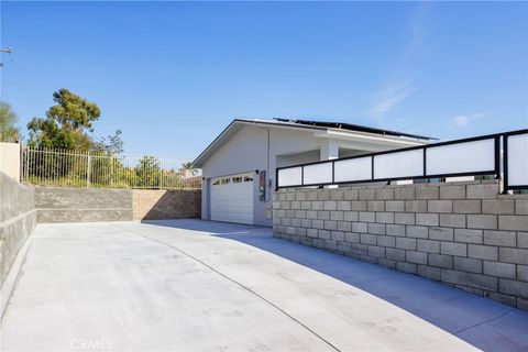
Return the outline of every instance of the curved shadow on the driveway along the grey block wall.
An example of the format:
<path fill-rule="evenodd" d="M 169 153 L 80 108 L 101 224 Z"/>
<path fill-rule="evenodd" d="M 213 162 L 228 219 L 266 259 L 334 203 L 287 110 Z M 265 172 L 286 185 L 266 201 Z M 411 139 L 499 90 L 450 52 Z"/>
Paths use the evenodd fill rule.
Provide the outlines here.
<path fill-rule="evenodd" d="M 528 351 L 528 312 L 419 276 L 272 237 L 272 229 L 201 220 L 143 221 L 245 243 L 384 299 L 485 351 Z"/>

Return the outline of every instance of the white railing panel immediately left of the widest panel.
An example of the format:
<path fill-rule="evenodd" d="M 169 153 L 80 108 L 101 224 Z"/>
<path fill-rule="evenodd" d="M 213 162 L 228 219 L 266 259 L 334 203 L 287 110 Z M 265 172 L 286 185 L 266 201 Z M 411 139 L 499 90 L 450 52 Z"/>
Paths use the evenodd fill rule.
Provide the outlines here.
<path fill-rule="evenodd" d="M 374 156 L 374 178 L 424 176 L 424 150 Z"/>

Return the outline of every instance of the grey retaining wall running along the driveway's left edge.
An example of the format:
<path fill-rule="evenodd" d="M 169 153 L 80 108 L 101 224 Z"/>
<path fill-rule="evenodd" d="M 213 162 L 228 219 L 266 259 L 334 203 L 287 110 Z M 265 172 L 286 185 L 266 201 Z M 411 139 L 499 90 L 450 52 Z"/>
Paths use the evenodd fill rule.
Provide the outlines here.
<path fill-rule="evenodd" d="M 16 254 L 35 224 L 34 188 L 0 172 L 0 316 L 16 276 Z"/>

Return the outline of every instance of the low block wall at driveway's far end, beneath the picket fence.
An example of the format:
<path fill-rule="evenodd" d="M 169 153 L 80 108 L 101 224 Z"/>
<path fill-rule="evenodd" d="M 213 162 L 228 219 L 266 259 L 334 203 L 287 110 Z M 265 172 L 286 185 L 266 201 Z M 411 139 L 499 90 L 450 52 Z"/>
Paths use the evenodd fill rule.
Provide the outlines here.
<path fill-rule="evenodd" d="M 200 191 L 35 187 L 38 222 L 200 217 Z"/>

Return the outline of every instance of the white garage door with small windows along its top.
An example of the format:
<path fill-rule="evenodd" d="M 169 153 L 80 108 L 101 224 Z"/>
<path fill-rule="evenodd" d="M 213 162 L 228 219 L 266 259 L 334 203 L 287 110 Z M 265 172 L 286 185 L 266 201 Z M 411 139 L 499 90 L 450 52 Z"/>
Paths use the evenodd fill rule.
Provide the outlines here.
<path fill-rule="evenodd" d="M 211 220 L 253 224 L 253 173 L 211 179 Z"/>

